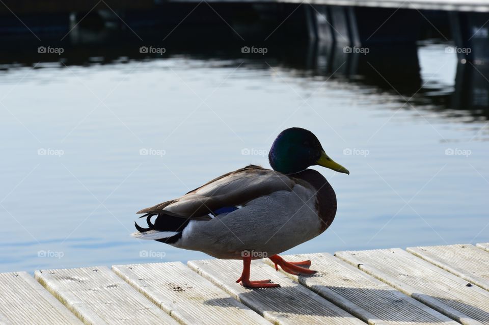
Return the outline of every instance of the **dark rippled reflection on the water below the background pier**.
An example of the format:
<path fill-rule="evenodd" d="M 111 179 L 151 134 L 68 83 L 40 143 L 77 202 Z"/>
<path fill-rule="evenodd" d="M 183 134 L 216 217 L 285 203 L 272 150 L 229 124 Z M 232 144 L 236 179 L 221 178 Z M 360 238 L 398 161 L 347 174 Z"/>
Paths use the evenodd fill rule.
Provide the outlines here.
<path fill-rule="evenodd" d="M 295 77 L 331 78 L 373 87 L 378 92 L 399 94 L 400 102 L 409 102 L 405 109 L 419 105 L 423 110 L 443 113 L 444 117 L 472 116 L 472 121 L 489 117 L 487 65 L 459 62 L 455 80 L 433 83 L 423 81 L 417 46 L 376 46 L 369 47 L 366 54 L 348 53 L 343 45 L 311 43 L 305 37 L 298 37 L 302 32 L 288 35 L 287 29 L 271 33 L 270 39 L 263 41 L 261 36 L 273 31 L 272 24 L 254 24 L 253 28 L 243 24 L 240 29 L 238 23 L 233 25 L 233 30 L 227 26 L 216 28 L 212 24 L 197 30 L 182 26 L 174 31 L 165 25 L 164 31 L 155 31 L 138 22 L 138 17 L 132 19 L 137 23 L 132 23 L 136 27 L 131 30 L 102 28 L 94 23 L 84 28 L 80 24 L 82 26 L 76 26 L 63 41 L 44 38 L 38 42 L 32 37 L 22 41 L 6 39 L 0 47 L 0 65 L 4 70 L 15 65 L 40 67 L 39 62 L 60 62 L 60 67 L 90 66 L 180 56 L 219 61 L 221 66 L 243 62 L 243 67 L 252 69 L 281 67 Z M 161 35 L 167 37 L 162 40 Z M 38 46 L 48 44 L 63 47 L 64 52 L 60 56 L 37 52 Z M 141 53 L 141 46 L 165 48 L 165 53 Z M 243 46 L 265 47 L 267 52 L 265 55 L 242 53 Z"/>

